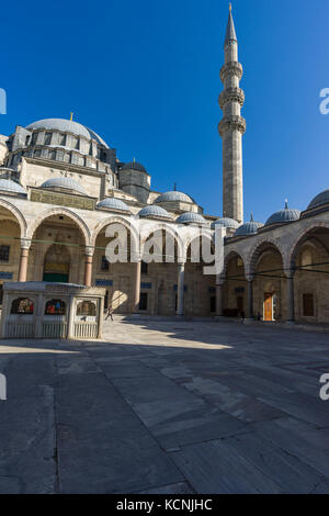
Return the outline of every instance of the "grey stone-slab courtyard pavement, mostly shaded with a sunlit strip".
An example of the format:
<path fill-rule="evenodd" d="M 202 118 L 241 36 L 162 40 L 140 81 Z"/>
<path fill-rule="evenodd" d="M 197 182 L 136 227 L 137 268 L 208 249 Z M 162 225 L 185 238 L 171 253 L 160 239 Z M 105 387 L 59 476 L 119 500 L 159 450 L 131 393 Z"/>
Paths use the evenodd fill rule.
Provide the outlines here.
<path fill-rule="evenodd" d="M 1 493 L 329 493 L 329 335 L 107 321 L 1 340 Z"/>

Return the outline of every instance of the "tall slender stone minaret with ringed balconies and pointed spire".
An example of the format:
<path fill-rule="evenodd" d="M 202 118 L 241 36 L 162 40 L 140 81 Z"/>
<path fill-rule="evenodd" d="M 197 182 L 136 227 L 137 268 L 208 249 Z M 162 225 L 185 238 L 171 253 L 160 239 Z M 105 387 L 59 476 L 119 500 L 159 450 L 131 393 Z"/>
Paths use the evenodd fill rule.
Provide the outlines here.
<path fill-rule="evenodd" d="M 245 93 L 239 88 L 242 66 L 238 61 L 238 42 L 230 4 L 224 51 L 225 65 L 220 70 L 224 91 L 219 96 L 223 119 L 218 125 L 223 138 L 223 216 L 242 223 L 242 134 L 246 131 L 246 121 L 240 113 Z"/>

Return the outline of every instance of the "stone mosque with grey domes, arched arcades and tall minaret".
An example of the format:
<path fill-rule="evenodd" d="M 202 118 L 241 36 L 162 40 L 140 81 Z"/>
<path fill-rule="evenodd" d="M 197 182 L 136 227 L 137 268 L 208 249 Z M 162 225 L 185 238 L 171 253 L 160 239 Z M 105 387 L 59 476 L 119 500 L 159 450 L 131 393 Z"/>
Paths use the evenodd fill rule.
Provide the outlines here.
<path fill-rule="evenodd" d="M 245 93 L 231 12 L 224 52 L 220 218 L 188 193 L 154 191 L 141 164 L 122 161 L 76 121 L 39 120 L 0 136 L 0 304 L 5 281 L 69 282 L 105 288 L 105 306 L 120 314 L 329 322 L 329 190 L 302 211 L 285 202 L 264 224 L 243 222 Z M 204 274 L 179 235 L 169 261 L 146 262 L 129 244 L 126 262 L 109 262 L 106 228 L 132 233 L 136 215 L 163 231 L 224 227 L 223 272 Z"/>

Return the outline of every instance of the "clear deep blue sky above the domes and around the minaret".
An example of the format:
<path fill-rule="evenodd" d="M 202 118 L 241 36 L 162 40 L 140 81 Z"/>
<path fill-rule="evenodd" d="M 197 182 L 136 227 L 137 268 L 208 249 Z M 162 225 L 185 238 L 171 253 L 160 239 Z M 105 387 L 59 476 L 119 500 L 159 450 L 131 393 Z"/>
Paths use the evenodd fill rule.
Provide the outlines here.
<path fill-rule="evenodd" d="M 306 209 L 329 188 L 328 0 L 235 0 L 246 92 L 245 217 Z M 134 157 L 152 189 L 191 194 L 222 214 L 218 94 L 228 2 L 107 0 L 5 2 L 0 133 L 69 117 Z"/>

